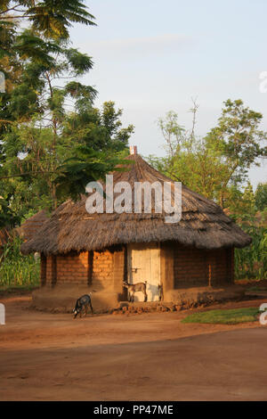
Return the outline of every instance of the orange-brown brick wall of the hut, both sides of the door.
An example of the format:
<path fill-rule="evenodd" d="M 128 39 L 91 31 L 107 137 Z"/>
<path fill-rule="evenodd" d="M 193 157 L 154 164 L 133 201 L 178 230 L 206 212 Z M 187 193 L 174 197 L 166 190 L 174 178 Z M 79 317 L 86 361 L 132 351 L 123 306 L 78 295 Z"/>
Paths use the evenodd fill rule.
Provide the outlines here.
<path fill-rule="evenodd" d="M 161 250 L 161 275 L 168 289 L 233 283 L 233 249 L 205 251 L 166 243 Z M 125 250 L 123 247 L 108 251 L 70 252 L 48 256 L 41 267 L 44 283 L 92 283 L 93 289 L 112 289 L 124 292 Z M 169 256 L 169 258 L 167 258 Z M 170 263 L 163 263 L 170 259 Z M 171 277 L 172 276 L 172 277 Z M 56 281 L 56 282 L 55 282 Z"/>

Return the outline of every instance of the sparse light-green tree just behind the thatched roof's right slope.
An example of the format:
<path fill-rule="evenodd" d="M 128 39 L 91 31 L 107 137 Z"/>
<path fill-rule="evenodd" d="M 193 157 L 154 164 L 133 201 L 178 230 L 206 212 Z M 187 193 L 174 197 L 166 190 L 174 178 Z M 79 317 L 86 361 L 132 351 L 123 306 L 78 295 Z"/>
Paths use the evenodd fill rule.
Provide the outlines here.
<path fill-rule="evenodd" d="M 150 163 L 166 176 L 215 199 L 224 168 L 216 152 L 207 148 L 203 139 L 195 136 L 198 104 L 194 102 L 190 111 L 193 115 L 190 129 L 179 124 L 178 115 L 174 111 L 167 112 L 164 119 L 158 119 L 158 126 L 166 142 L 166 157 L 157 159 L 150 156 Z"/>

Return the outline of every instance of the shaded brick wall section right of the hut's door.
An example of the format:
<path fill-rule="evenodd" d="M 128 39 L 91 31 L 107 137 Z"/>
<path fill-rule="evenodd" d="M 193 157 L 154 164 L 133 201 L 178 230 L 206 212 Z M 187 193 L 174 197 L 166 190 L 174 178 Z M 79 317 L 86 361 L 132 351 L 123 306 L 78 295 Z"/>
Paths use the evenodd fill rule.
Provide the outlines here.
<path fill-rule="evenodd" d="M 206 251 L 176 246 L 174 288 L 233 283 L 233 251 Z"/>

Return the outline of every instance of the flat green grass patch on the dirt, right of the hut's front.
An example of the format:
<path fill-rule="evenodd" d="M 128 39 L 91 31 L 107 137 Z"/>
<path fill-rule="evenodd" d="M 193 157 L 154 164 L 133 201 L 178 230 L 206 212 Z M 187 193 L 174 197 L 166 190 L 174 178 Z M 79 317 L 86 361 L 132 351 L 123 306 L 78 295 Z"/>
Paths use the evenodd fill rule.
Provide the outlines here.
<path fill-rule="evenodd" d="M 203 313 L 194 313 L 185 317 L 182 323 L 206 323 L 214 325 L 237 325 L 257 321 L 259 309 L 233 308 L 228 310 L 210 310 Z"/>

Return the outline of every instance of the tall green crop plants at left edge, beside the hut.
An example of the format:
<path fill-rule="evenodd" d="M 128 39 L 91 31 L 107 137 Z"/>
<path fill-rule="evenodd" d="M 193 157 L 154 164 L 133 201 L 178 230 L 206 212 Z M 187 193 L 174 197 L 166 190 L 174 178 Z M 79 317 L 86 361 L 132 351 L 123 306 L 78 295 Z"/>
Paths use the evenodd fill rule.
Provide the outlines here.
<path fill-rule="evenodd" d="M 33 255 L 22 256 L 22 240 L 15 237 L 4 245 L 0 257 L 0 286 L 39 285 L 40 262 Z"/>

